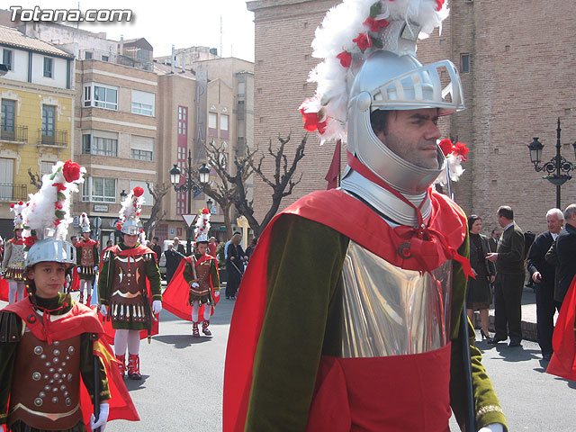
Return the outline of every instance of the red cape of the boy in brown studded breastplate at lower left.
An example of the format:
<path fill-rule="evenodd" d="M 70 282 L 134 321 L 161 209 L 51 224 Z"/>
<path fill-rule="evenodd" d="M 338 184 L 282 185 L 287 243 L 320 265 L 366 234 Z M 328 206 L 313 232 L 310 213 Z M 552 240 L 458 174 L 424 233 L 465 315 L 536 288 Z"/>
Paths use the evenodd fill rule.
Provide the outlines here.
<path fill-rule="evenodd" d="M 16 313 L 26 323 L 26 327 L 31 330 L 36 338 L 48 341 L 49 344 L 51 344 L 52 340 L 74 338 L 82 333 L 97 333 L 100 335 L 101 338 L 94 342 L 94 356 L 99 356 L 102 359 L 108 376 L 108 387 L 111 394 L 111 399 L 108 401 L 110 405 L 108 420 L 139 420 L 138 412 L 116 365 L 117 360 L 112 354 L 112 348 L 102 338 L 103 328 L 94 311 L 84 304 L 74 302 L 72 313 L 66 318 L 50 322 L 48 329 L 44 328 L 42 320 L 35 320 L 34 322 L 27 320 L 31 314 L 36 316 L 29 299 L 10 304 L 3 311 Z M 80 387 L 80 406 L 86 429 L 90 430 L 90 416 L 94 413 L 94 408 L 84 385 Z"/>

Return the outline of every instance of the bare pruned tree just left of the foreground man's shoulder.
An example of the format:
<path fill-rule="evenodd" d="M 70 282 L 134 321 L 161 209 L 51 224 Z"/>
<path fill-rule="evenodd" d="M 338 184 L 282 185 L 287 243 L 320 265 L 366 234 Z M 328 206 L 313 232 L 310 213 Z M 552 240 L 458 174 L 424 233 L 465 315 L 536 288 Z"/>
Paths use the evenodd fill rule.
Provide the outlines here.
<path fill-rule="evenodd" d="M 234 166 L 236 168 L 236 174 L 230 175 L 227 166 L 228 157 L 224 149 L 215 146 L 213 141 L 206 146 L 208 162 L 218 173 L 221 180 L 221 184 L 218 187 L 226 193 L 220 193 L 220 196 L 217 196 L 217 194 L 213 193 L 213 190 L 208 188 L 204 188 L 204 192 L 220 204 L 222 210 L 224 210 L 225 220 L 226 214 L 229 211 L 229 205 L 233 203 L 238 213 L 246 217 L 250 228 L 254 230 L 255 236 L 260 236 L 262 230 L 266 228 L 268 222 L 274 218 L 280 208 L 282 199 L 293 193 L 294 187 L 302 180 L 302 174 L 297 181 L 293 181 L 293 175 L 298 162 L 304 157 L 304 148 L 306 147 L 308 134 L 302 137 L 302 141 L 296 148 L 291 162 L 288 161 L 288 157 L 285 154 L 286 144 L 290 142 L 290 139 L 290 134 L 286 138 L 282 138 L 279 135 L 278 140 L 280 141 L 280 146 L 278 148 L 273 148 L 272 139 L 270 139 L 268 155 L 273 157 L 275 161 L 275 170 L 271 177 L 268 177 L 262 170 L 262 163 L 267 155 L 265 156 L 264 152 L 262 152 L 261 157 L 259 157 L 257 161 L 255 160 L 258 149 L 253 151 L 247 149 L 244 156 L 235 157 Z M 247 198 L 246 182 L 248 177 L 254 173 L 272 188 L 272 204 L 268 211 L 266 211 L 264 219 L 261 221 L 258 221 L 254 216 L 253 201 L 248 201 Z M 227 206 L 223 206 L 222 203 L 226 203 Z M 229 235 L 231 235 L 231 229 L 229 229 Z"/>

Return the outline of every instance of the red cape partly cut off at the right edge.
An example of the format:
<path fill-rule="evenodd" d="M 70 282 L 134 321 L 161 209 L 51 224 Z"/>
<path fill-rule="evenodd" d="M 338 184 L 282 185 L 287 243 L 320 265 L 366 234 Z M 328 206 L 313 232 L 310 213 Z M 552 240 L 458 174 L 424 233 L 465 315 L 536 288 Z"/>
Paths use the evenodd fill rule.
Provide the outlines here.
<path fill-rule="evenodd" d="M 576 381 L 576 277 L 564 297 L 562 308 L 556 320 L 552 347 L 554 354 L 546 369 L 547 374 L 562 376 Z"/>

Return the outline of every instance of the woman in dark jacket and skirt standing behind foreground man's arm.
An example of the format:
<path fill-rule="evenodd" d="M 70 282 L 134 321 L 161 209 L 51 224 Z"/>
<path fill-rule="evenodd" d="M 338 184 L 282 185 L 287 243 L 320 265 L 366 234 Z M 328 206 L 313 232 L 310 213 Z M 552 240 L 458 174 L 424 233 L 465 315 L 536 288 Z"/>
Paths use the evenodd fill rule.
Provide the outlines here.
<path fill-rule="evenodd" d="M 494 264 L 486 259 L 486 254 L 491 252 L 488 238 L 480 233 L 482 229 L 482 219 L 473 214 L 468 218 L 468 230 L 470 233 L 470 265 L 473 275 L 468 278 L 466 288 L 466 312 L 468 318 L 473 322 L 474 311 L 480 311 L 483 338 L 490 338 L 488 331 L 488 309 L 492 302 L 491 283 L 494 282 L 496 269 Z"/>

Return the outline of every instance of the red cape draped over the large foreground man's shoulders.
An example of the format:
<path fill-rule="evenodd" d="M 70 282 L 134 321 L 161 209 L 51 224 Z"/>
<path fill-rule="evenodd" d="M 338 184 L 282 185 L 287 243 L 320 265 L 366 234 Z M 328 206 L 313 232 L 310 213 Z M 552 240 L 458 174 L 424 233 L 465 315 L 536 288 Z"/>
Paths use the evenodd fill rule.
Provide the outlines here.
<path fill-rule="evenodd" d="M 224 372 L 224 432 L 243 431 L 246 423 L 252 366 L 266 310 L 266 267 L 270 233 L 275 220 L 283 214 L 295 214 L 315 220 L 338 230 L 394 266 L 428 271 L 441 266 L 447 259 L 456 259 L 454 252 L 450 250 L 460 247 L 467 235 L 464 211 L 445 195 L 432 189 L 429 193 L 432 202 L 429 229 L 432 232 L 444 233 L 447 245 L 437 237 L 428 241 L 411 237 L 412 234 L 406 227 L 392 229 L 363 202 L 338 189 L 304 196 L 276 215 L 266 226 L 242 279 L 230 322 Z M 469 268 L 470 263 L 465 261 Z M 466 265 L 463 266 L 465 269 Z"/>

